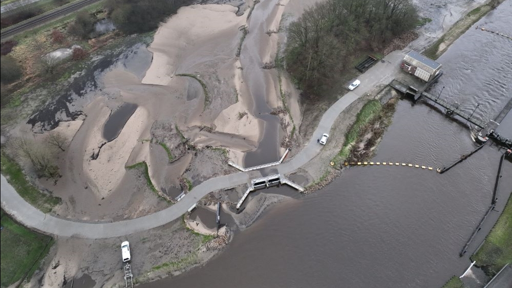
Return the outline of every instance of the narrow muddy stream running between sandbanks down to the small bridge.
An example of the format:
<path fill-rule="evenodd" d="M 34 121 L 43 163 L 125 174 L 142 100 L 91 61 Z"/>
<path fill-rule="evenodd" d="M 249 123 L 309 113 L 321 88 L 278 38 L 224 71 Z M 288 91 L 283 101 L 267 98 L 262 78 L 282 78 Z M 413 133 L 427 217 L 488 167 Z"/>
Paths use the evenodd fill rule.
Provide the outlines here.
<path fill-rule="evenodd" d="M 279 160 L 279 130 L 281 126 L 277 116 L 271 115 L 272 110 L 267 104 L 267 93 L 273 90 L 268 70 L 263 70 L 261 53 L 268 49 L 264 43 L 268 42 L 265 34 L 266 20 L 276 7 L 278 0 L 262 1 L 255 6 L 249 18 L 249 34 L 245 37 L 240 53 L 243 77 L 248 83 L 252 98 L 252 114 L 263 120 L 263 133 L 258 148 L 245 154 L 244 166 L 251 167 Z"/>

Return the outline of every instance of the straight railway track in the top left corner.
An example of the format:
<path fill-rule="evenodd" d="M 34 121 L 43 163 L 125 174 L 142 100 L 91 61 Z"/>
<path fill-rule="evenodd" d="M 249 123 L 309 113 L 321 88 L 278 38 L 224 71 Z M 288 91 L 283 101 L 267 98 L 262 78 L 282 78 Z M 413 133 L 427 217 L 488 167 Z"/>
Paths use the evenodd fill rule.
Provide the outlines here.
<path fill-rule="evenodd" d="M 82 0 L 75 3 L 71 3 L 69 5 L 60 7 L 56 10 L 49 11 L 47 13 L 35 16 L 28 20 L 23 21 L 22 23 L 15 24 L 11 27 L 7 27 L 0 32 L 0 38 L 4 39 L 9 36 L 15 35 L 16 33 L 25 31 L 28 28 L 35 27 L 39 24 L 45 23 L 46 21 L 57 18 L 58 16 L 65 15 L 67 13 L 78 10 L 82 7 L 86 7 L 87 5 L 98 2 L 99 0 Z"/>

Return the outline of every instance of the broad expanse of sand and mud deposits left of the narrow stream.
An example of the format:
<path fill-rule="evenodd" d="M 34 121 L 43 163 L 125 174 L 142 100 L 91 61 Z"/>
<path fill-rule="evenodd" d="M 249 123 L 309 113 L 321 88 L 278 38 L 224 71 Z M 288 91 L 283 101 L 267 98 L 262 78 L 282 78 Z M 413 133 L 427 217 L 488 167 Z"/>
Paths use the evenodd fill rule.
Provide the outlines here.
<path fill-rule="evenodd" d="M 278 29 L 283 7 L 272 9 L 276 11 L 271 12 L 271 29 Z M 135 69 L 140 59 L 116 56 L 110 68 L 92 78 L 98 84 L 95 90 L 61 98 L 81 116 L 71 122 L 65 122 L 70 117 L 60 112 L 54 117 L 60 123 L 55 131 L 69 141 L 66 151 L 57 152 L 62 177 L 56 183 L 39 183 L 62 198 L 56 213 L 81 220 L 115 220 L 155 212 L 165 202 L 146 185 L 143 170 L 127 166 L 146 162 L 154 187 L 176 197 L 182 190 L 180 178 L 197 185 L 211 176 L 231 173 L 226 156 L 242 164 L 244 154 L 257 148 L 264 125 L 251 114 L 245 83 L 249 79 L 244 79 L 236 57 L 243 33 L 239 28 L 246 24 L 247 11 L 241 16 L 236 13 L 237 8 L 230 5 L 183 7 L 155 34 L 148 48 L 153 58 L 140 46 L 131 48 L 137 53 L 126 52 L 151 60 L 145 76 Z M 270 60 L 277 37 L 262 34 L 265 42 L 273 43 L 272 49 L 262 50 Z M 271 72 L 269 82 L 277 83 L 276 73 Z M 277 106 L 278 88 L 274 84 L 267 90 L 272 90 L 269 104 Z M 105 123 L 125 103 L 136 105 L 135 112 L 127 115 L 125 124 L 115 124 L 119 134 L 109 142 Z M 49 103 L 42 112 L 52 118 L 54 106 Z M 46 132 L 22 134 L 36 139 L 46 136 Z M 210 149 L 216 147 L 228 153 Z M 226 167 L 219 169 L 219 165 Z"/>

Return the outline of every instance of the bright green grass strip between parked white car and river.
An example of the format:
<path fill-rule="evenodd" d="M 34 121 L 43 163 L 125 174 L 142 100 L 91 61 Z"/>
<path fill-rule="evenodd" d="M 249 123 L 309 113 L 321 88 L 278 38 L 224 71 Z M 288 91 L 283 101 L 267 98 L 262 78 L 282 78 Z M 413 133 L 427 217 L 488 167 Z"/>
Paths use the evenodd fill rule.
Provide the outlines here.
<path fill-rule="evenodd" d="M 368 124 L 373 118 L 379 115 L 382 109 L 382 104 L 378 100 L 370 100 L 364 106 L 362 106 L 359 113 L 357 113 L 354 124 L 350 127 L 345 135 L 345 142 L 343 143 L 342 149 L 339 150 L 336 157 L 333 159 L 334 163 L 342 163 L 347 159 L 350 153 L 352 145 L 356 142 L 359 137 L 360 131 L 366 124 Z"/>

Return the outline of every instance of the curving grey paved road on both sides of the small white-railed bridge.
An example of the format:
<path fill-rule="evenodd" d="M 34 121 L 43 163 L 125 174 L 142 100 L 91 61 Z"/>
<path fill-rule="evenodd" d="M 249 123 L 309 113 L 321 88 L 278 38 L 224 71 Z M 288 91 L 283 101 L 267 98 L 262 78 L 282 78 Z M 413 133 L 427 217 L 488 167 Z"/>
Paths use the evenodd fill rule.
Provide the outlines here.
<path fill-rule="evenodd" d="M 326 111 L 318 123 L 314 134 L 311 136 L 308 145 L 292 159 L 275 166 L 278 168 L 278 171 L 281 174 L 291 173 L 313 159 L 323 147 L 316 143 L 316 138 L 330 131 L 338 115 L 361 95 L 364 95 L 378 84 L 388 84 L 391 82 L 399 72 L 399 65 L 403 56 L 404 53 L 402 51 L 394 51 L 384 58 L 385 62 L 378 62 L 366 73 L 360 75 L 358 78 L 361 80 L 359 87 L 355 91 L 344 95 Z M 19 196 L 7 182 L 4 175 L 1 176 L 0 190 L 2 209 L 27 227 L 57 236 L 99 239 L 128 235 L 162 226 L 181 217 L 188 208 L 197 203 L 206 194 L 220 189 L 247 184 L 248 182 L 249 175 L 246 172 L 211 178 L 194 187 L 173 206 L 143 217 L 113 223 L 83 223 L 73 219 L 58 218 L 42 213 Z"/>

